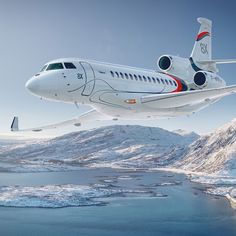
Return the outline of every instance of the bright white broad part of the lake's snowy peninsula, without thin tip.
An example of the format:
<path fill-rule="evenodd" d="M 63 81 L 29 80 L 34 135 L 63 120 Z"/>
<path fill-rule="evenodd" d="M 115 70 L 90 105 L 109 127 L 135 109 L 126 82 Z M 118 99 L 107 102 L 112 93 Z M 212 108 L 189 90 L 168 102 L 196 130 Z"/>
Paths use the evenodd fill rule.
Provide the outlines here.
<path fill-rule="evenodd" d="M 82 185 L 47 185 L 40 187 L 8 186 L 0 188 L 0 205 L 8 207 L 59 208 L 99 205 L 93 198 L 111 194 L 106 189 Z"/>

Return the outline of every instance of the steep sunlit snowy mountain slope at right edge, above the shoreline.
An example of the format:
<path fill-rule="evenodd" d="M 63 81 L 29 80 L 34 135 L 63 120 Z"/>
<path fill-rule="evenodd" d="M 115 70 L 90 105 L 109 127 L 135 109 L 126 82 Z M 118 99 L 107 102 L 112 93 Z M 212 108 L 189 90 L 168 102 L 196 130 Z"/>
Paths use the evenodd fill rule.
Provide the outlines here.
<path fill-rule="evenodd" d="M 211 174 L 236 174 L 236 119 L 192 143 L 174 166 Z"/>

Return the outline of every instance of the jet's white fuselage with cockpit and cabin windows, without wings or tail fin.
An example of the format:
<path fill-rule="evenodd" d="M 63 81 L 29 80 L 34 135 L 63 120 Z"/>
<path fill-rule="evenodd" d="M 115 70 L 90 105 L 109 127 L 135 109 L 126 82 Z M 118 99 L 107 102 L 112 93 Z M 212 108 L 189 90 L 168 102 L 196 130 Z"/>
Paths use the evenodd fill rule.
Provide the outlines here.
<path fill-rule="evenodd" d="M 66 68 L 65 63 L 71 63 L 76 68 L 71 68 L 71 65 Z M 47 70 L 51 64 L 55 68 Z M 42 72 L 27 82 L 26 87 L 41 98 L 86 104 L 112 117 L 176 117 L 191 114 L 214 101 L 186 102 L 184 106 L 163 101 L 156 107 L 143 103 L 141 98 L 146 95 L 189 90 L 194 73 L 189 67 L 190 76 L 183 80 L 154 70 L 67 58 L 47 63 Z M 224 81 L 222 86 L 223 83 Z"/>

